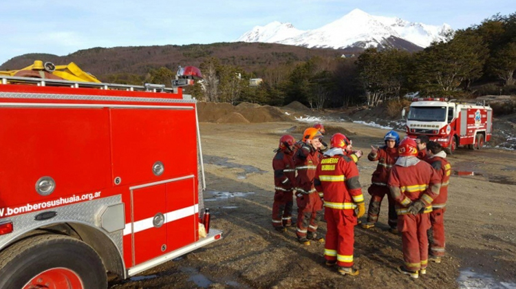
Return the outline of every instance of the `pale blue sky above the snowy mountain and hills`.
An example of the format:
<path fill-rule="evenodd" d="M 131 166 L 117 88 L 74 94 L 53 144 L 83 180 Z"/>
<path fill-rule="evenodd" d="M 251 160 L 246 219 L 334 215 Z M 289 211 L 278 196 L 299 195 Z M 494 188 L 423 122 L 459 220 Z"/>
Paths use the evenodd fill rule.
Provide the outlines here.
<path fill-rule="evenodd" d="M 91 47 L 228 42 L 256 25 L 319 28 L 359 8 L 453 29 L 516 12 L 514 0 L 10 0 L 0 9 L 0 64 L 26 53 L 67 55 Z M 44 61 L 44 59 L 43 59 Z M 59 63 L 63 64 L 63 63 Z"/>

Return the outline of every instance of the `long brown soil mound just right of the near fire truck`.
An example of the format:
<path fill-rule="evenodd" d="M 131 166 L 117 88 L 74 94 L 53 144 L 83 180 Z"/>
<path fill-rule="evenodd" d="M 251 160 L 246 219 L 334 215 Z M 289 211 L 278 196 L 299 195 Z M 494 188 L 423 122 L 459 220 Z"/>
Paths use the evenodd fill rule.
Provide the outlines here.
<path fill-rule="evenodd" d="M 200 122 L 278 122 L 292 121 L 293 116 L 285 114 L 278 107 L 269 105 L 257 105 L 254 103 L 241 103 L 236 107 L 229 103 L 197 103 L 197 112 Z"/>

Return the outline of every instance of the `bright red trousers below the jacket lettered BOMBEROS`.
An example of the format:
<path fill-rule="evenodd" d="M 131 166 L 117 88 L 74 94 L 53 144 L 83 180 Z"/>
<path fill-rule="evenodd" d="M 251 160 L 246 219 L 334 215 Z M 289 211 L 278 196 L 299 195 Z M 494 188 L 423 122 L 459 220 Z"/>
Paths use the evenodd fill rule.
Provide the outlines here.
<path fill-rule="evenodd" d="M 353 266 L 354 228 L 356 215 L 354 210 L 325 208 L 327 224 L 324 257 L 328 261 L 337 261 L 337 266 Z"/>

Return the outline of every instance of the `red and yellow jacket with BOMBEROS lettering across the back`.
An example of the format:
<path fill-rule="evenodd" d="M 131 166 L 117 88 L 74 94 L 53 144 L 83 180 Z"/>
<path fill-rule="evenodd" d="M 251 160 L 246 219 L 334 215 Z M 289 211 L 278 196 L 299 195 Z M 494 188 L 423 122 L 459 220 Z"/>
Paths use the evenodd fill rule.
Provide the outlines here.
<path fill-rule="evenodd" d="M 353 215 L 356 204 L 364 202 L 355 162 L 342 149 L 330 149 L 317 166 L 314 184 L 324 193 L 324 206 Z"/>

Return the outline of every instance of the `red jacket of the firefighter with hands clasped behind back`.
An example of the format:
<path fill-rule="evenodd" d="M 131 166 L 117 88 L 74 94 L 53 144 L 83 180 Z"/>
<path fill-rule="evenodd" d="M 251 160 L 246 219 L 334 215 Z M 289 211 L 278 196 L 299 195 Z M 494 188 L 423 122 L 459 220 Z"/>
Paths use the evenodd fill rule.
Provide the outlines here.
<path fill-rule="evenodd" d="M 406 215 L 414 201 L 424 203 L 423 213 L 432 211 L 432 202 L 439 195 L 441 179 L 428 162 L 416 157 L 400 157 L 391 169 L 387 185 L 396 201 L 396 213 Z"/>

